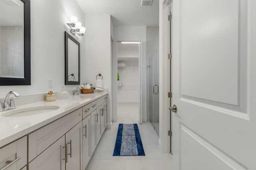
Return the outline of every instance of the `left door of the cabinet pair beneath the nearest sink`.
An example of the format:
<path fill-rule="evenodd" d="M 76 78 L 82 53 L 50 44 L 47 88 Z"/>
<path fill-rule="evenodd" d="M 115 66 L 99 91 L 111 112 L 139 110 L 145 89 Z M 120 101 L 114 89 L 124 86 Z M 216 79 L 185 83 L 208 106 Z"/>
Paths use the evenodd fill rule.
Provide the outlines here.
<path fill-rule="evenodd" d="M 44 150 L 28 167 L 30 170 L 65 170 L 65 135 Z"/>

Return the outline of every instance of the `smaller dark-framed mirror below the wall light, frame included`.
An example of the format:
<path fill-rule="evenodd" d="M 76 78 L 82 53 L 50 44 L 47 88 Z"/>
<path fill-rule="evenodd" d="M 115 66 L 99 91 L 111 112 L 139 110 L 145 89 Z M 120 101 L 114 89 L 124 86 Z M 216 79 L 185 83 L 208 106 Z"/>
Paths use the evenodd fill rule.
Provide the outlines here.
<path fill-rule="evenodd" d="M 80 43 L 65 31 L 65 84 L 80 84 Z"/>

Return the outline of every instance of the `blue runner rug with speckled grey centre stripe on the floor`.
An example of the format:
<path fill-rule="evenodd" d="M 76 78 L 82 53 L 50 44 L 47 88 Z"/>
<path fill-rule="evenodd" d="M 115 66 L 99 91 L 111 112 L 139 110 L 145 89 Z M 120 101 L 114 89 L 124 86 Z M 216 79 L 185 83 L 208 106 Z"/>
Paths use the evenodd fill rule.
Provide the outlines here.
<path fill-rule="evenodd" d="M 113 156 L 145 156 L 137 124 L 119 124 Z"/>

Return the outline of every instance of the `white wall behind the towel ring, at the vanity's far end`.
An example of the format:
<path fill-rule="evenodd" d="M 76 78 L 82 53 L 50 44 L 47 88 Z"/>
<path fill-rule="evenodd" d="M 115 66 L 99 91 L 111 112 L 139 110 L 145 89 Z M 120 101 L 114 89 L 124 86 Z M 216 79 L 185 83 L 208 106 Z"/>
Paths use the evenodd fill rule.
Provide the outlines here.
<path fill-rule="evenodd" d="M 86 15 L 85 18 L 86 39 L 86 80 L 96 85 L 96 76 L 103 76 L 103 86 L 108 88 L 108 128 L 111 126 L 111 18 L 110 15 Z"/>

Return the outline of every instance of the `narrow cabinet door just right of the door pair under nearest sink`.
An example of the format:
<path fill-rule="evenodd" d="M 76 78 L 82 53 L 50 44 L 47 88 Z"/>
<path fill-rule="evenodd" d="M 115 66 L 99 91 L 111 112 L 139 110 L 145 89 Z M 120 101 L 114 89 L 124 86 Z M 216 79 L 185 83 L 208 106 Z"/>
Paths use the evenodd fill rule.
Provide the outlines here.
<path fill-rule="evenodd" d="M 86 168 L 91 158 L 90 125 L 91 125 L 91 117 L 90 115 L 88 115 L 83 120 L 83 170 Z"/>

